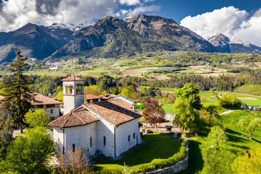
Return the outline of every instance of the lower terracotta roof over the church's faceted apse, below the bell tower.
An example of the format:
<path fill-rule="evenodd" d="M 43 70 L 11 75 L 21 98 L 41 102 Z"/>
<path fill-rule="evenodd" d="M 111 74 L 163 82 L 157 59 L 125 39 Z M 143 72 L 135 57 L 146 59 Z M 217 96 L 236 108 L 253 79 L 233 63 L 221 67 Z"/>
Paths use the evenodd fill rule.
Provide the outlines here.
<path fill-rule="evenodd" d="M 56 120 L 50 122 L 48 126 L 51 127 L 73 127 L 73 126 L 83 126 L 95 121 L 99 118 L 92 115 L 87 110 L 73 111 L 68 114 L 57 118 Z"/>

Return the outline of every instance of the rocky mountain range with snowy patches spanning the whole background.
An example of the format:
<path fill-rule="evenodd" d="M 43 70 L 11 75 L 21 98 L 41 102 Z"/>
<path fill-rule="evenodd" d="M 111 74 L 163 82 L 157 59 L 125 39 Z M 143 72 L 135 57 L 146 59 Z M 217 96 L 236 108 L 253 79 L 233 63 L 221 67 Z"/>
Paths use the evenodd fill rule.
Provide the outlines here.
<path fill-rule="evenodd" d="M 176 50 L 227 53 L 261 50 L 241 42 L 236 43 L 221 34 L 207 41 L 173 19 L 160 16 L 143 14 L 125 19 L 107 16 L 91 26 L 28 23 L 14 31 L 0 32 L 0 63 L 14 59 L 17 49 L 24 56 L 49 61 L 75 56 L 113 58 Z"/>

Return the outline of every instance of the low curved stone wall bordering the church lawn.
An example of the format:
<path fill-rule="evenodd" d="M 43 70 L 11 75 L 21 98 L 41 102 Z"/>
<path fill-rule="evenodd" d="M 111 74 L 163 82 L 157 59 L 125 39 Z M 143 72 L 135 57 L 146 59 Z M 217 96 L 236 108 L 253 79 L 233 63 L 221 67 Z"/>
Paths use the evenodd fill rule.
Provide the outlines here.
<path fill-rule="evenodd" d="M 169 166 L 163 169 L 147 172 L 146 174 L 175 174 L 185 170 L 187 168 L 187 163 L 188 163 L 188 145 L 187 145 L 186 136 L 185 136 L 185 146 L 186 146 L 186 156 L 184 160 L 178 161 L 177 163 L 174 164 L 174 166 Z"/>

